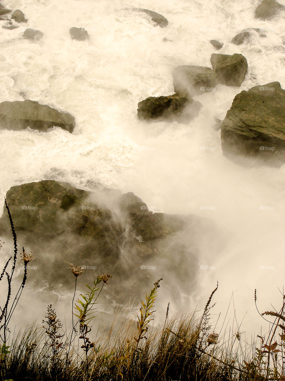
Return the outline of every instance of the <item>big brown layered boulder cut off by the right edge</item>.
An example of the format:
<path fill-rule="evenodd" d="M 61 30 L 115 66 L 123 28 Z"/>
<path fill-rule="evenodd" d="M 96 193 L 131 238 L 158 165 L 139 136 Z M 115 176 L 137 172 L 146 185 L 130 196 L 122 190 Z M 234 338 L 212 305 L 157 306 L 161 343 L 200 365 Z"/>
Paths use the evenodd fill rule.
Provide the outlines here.
<path fill-rule="evenodd" d="M 285 90 L 279 82 L 254 86 L 233 100 L 221 125 L 223 155 L 251 157 L 269 165 L 285 162 Z"/>

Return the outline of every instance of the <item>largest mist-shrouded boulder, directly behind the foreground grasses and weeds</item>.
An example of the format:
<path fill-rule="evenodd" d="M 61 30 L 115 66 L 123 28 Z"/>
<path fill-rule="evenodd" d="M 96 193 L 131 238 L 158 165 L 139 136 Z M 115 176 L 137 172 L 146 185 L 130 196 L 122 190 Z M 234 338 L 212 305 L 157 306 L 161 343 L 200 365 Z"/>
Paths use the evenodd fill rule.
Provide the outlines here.
<path fill-rule="evenodd" d="M 72 262 L 85 266 L 87 284 L 97 274 L 112 274 L 114 287 L 108 292 L 116 293 L 116 303 L 127 303 L 130 297 L 133 300 L 139 287 L 149 285 L 150 277 L 163 277 L 179 298 L 178 287 L 193 293 L 192 282 L 200 271 L 203 250 L 212 250 L 215 237 L 220 242 L 211 221 L 195 215 L 152 213 L 131 192 L 90 192 L 45 180 L 11 187 L 6 200 L 19 248 L 24 246 L 27 253 L 33 250 L 35 256 L 29 263 L 36 266 L 35 271 L 29 271 L 29 282 L 41 288 L 50 285 L 55 292 L 54 285 L 65 290 L 73 284 L 74 277 L 68 271 Z M 13 247 L 9 245 L 11 230 L 5 208 L 0 235 L 5 245 Z M 220 251 L 221 245 L 217 247 Z M 214 255 L 218 252 L 212 250 Z"/>

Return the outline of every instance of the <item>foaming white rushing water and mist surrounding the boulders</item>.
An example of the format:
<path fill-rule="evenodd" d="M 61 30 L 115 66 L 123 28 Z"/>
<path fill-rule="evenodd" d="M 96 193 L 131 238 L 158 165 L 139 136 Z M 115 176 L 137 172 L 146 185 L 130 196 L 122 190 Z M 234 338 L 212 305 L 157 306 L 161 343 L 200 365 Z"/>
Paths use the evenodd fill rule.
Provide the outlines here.
<path fill-rule="evenodd" d="M 0 102 L 27 98 L 67 110 L 76 118 L 76 128 L 73 134 L 60 128 L 48 133 L 0 131 L 1 197 L 17 184 L 55 179 L 83 189 L 131 191 L 153 211 L 211 218 L 232 239 L 217 257 L 205 250 L 200 258 L 201 266 L 215 268 L 197 269 L 201 295 L 193 306 L 206 301 L 219 279 L 218 309 L 226 308 L 235 291 L 238 318 L 249 310 L 245 322 L 254 319 L 254 289 L 267 308 L 284 282 L 285 168 L 244 168 L 230 162 L 222 156 L 220 131 L 212 125 L 214 117 L 223 120 L 241 90 L 273 81 L 285 88 L 285 20 L 254 19 L 259 3 L 2 1 L 7 8 L 21 9 L 28 23 L 14 30 L 0 28 Z M 169 24 L 154 27 L 131 7 L 157 11 Z M 90 40 L 71 40 L 73 26 L 86 28 Z M 44 38 L 23 40 L 26 27 L 41 30 Z M 249 27 L 264 28 L 267 38 L 256 34 L 250 44 L 230 43 Z M 164 37 L 173 42 L 163 42 Z M 139 101 L 173 94 L 174 67 L 211 67 L 211 54 L 216 53 L 211 39 L 224 43 L 219 53 L 247 58 L 241 88 L 218 85 L 197 96 L 203 109 L 187 125 L 139 121 Z"/>

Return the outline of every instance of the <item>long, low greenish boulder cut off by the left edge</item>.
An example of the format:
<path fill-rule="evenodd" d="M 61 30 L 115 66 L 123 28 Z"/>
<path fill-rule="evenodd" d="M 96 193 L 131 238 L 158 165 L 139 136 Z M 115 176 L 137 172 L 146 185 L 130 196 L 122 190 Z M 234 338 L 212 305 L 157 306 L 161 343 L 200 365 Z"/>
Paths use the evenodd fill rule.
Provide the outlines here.
<path fill-rule="evenodd" d="M 0 103 L 0 129 L 22 130 L 30 127 L 33 130 L 46 132 L 57 126 L 70 133 L 75 127 L 75 119 L 67 112 L 52 109 L 36 101 L 15 101 Z"/>

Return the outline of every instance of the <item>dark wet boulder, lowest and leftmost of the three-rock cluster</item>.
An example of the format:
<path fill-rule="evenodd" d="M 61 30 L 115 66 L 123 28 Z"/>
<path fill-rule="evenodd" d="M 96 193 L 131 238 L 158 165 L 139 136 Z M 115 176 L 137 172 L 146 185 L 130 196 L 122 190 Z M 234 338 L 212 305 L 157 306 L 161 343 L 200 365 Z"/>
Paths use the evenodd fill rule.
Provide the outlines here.
<path fill-rule="evenodd" d="M 149 122 L 187 123 L 199 114 L 202 105 L 177 94 L 149 97 L 138 103 L 138 118 Z"/>

